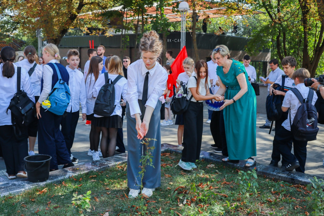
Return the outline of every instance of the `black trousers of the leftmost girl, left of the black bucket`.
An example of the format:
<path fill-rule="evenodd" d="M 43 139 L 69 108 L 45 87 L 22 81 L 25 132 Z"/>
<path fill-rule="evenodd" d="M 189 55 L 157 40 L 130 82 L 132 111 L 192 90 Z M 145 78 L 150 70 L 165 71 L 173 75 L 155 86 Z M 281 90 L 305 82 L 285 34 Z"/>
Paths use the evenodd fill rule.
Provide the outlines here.
<path fill-rule="evenodd" d="M 12 125 L 0 126 L 0 145 L 8 175 L 16 175 L 24 170 L 24 157 L 28 156 L 28 138 L 18 141 Z"/>

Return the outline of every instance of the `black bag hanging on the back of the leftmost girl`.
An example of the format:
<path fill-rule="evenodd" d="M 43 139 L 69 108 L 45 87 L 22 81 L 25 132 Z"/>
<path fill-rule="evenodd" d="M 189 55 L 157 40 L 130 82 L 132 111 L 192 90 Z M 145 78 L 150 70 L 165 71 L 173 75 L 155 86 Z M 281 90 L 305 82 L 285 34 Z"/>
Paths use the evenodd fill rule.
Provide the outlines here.
<path fill-rule="evenodd" d="M 28 126 L 36 118 L 35 103 L 30 100 L 24 90 L 20 90 L 21 67 L 17 67 L 17 93 L 10 100 L 9 107 L 6 110 L 11 111 L 11 123 L 16 137 L 21 138 L 24 127 Z"/>

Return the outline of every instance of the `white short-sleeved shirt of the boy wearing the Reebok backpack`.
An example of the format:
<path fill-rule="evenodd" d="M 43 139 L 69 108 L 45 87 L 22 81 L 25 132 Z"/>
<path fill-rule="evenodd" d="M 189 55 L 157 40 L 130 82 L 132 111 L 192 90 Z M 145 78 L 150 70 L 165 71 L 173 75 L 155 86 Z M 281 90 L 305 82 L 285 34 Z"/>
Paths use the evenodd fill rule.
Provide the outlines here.
<path fill-rule="evenodd" d="M 303 96 L 303 98 L 307 98 L 308 93 L 309 93 L 309 88 L 304 85 L 304 83 L 300 83 L 296 85 L 296 87 L 300 94 Z M 316 92 L 314 92 L 313 100 L 311 103 L 314 105 L 317 100 L 317 95 Z M 290 131 L 290 117 L 291 117 L 291 123 L 293 123 L 297 109 L 301 106 L 302 104 L 299 102 L 297 96 L 292 92 L 292 91 L 287 91 L 286 95 L 284 96 L 284 101 L 283 101 L 283 107 L 289 108 L 289 114 L 288 114 L 288 119 L 286 119 L 283 123 L 282 126 Z"/>

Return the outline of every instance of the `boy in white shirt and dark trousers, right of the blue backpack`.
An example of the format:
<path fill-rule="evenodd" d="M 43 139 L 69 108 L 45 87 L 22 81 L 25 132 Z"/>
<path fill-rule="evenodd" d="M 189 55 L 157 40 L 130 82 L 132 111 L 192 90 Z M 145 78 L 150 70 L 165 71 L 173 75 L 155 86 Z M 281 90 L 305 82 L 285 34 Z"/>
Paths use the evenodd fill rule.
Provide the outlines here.
<path fill-rule="evenodd" d="M 62 118 L 61 121 L 61 131 L 63 133 L 66 148 L 70 154 L 71 161 L 73 164 L 77 164 L 78 159 L 75 158 L 71 153 L 71 148 L 74 141 L 76 125 L 79 119 L 80 103 L 82 107 L 82 121 L 86 119 L 86 85 L 82 72 L 76 69 L 80 63 L 79 51 L 69 50 L 66 56 L 67 63 L 69 63 L 69 65 L 66 66 L 66 70 L 70 76 L 69 87 L 71 99 L 69 106 L 66 108 L 66 116 Z"/>

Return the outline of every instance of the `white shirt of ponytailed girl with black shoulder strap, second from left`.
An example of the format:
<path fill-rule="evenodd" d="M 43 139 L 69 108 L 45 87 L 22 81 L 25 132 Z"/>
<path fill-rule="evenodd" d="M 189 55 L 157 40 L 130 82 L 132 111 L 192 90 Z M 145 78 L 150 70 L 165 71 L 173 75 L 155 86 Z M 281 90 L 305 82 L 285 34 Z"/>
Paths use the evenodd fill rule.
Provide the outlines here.
<path fill-rule="evenodd" d="M 28 59 L 23 59 L 22 61 L 16 62 L 15 64 L 17 65 L 17 67 L 24 68 L 28 74 L 29 69 L 32 68 L 35 63 L 36 62 L 29 63 Z M 41 65 L 37 64 L 34 72 L 30 76 L 30 83 L 33 86 L 35 96 L 40 96 L 40 94 L 41 94 L 41 77 L 42 76 L 43 76 L 43 67 Z"/>

